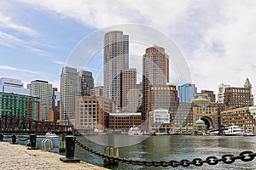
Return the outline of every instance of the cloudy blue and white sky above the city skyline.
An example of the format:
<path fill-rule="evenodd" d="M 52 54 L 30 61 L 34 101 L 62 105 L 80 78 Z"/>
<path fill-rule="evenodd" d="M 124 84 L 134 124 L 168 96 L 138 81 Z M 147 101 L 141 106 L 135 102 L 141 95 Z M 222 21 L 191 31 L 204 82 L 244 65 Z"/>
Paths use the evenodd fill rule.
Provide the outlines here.
<path fill-rule="evenodd" d="M 255 16 L 253 0 L 2 0 L 0 77 L 25 84 L 40 79 L 59 87 L 61 69 L 79 42 L 108 27 L 133 24 L 159 31 L 176 44 L 199 92 L 218 94 L 221 83 L 242 87 L 248 77 L 256 95 Z M 138 70 L 141 58 L 134 58 L 143 56 L 145 48 L 130 44 L 130 65 Z M 175 56 L 169 56 L 172 63 Z M 172 66 L 170 82 L 184 83 L 173 73 L 175 62 Z M 96 84 L 102 79 L 100 67 L 101 49 L 86 67 Z"/>

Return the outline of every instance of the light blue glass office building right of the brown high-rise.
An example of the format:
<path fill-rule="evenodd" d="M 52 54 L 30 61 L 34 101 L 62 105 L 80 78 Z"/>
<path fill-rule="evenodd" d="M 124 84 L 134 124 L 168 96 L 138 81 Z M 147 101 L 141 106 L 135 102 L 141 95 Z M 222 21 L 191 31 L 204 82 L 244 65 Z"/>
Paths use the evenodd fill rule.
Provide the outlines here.
<path fill-rule="evenodd" d="M 177 86 L 179 102 L 191 102 L 195 94 L 197 94 L 197 88 L 195 84 L 185 83 Z"/>

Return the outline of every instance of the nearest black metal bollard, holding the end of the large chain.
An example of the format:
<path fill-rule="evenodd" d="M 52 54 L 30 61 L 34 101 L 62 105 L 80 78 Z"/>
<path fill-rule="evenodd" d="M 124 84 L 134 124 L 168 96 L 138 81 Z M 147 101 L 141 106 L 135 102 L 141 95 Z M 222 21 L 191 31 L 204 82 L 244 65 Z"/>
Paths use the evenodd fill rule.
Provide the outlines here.
<path fill-rule="evenodd" d="M 66 136 L 66 157 L 61 157 L 61 161 L 66 162 L 79 162 L 80 160 L 74 157 L 75 150 L 75 137 L 74 136 Z"/>

